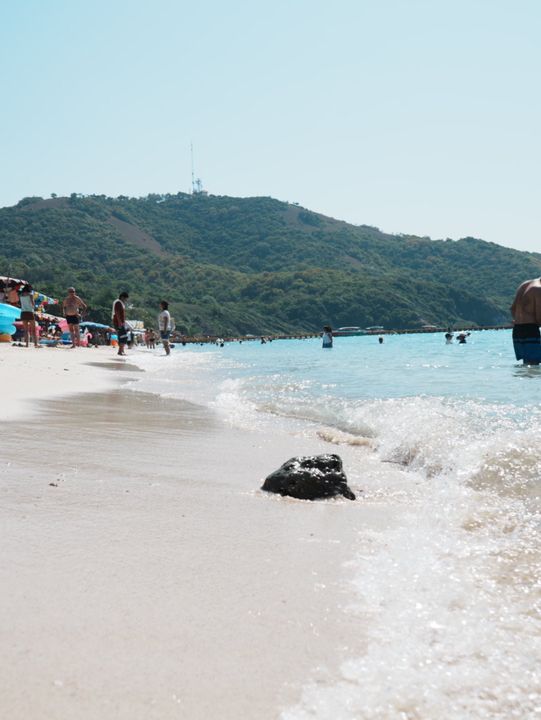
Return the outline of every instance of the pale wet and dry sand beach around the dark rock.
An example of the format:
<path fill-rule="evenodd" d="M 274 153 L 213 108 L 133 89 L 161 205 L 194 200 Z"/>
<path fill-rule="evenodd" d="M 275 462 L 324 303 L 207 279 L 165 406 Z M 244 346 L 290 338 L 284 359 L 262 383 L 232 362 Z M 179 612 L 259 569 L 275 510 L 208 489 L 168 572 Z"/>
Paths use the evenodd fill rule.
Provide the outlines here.
<path fill-rule="evenodd" d="M 0 714 L 278 718 L 361 654 L 344 563 L 382 520 L 258 490 L 321 439 L 241 432 L 135 376 L 106 348 L 0 346 Z"/>

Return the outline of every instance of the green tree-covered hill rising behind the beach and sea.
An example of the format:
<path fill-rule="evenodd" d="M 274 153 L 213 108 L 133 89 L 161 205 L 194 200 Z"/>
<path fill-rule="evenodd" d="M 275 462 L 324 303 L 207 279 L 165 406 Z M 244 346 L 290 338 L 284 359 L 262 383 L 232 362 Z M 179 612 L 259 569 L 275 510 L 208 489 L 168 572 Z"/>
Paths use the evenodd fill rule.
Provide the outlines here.
<path fill-rule="evenodd" d="M 59 297 L 75 285 L 103 322 L 127 289 L 133 317 L 153 321 L 165 298 L 186 332 L 258 334 L 505 323 L 541 255 L 388 235 L 272 198 L 73 194 L 0 209 L 0 274 Z"/>

